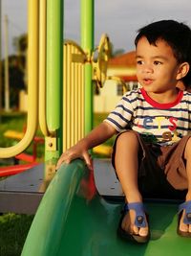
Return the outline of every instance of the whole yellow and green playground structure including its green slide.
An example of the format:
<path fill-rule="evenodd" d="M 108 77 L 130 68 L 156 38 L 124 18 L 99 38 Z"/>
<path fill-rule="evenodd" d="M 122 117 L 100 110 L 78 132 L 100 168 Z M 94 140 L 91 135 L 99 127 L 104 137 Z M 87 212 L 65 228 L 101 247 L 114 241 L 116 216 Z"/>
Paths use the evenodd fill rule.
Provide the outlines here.
<path fill-rule="evenodd" d="M 29 0 L 28 3 L 29 55 L 32 58 L 32 63 L 30 62 L 32 69 L 29 70 L 28 126 L 23 140 L 18 145 L 6 151 L 0 149 L 0 157 L 11 157 L 24 151 L 30 144 L 30 140 L 32 141 L 37 124 L 37 83 L 40 78 L 42 81 L 39 82 L 39 123 L 45 135 L 45 163 L 0 182 L 0 188 L 9 187 L 9 185 L 12 188 L 16 180 L 18 183 L 23 180 L 27 182 L 27 178 L 30 177 L 31 189 L 34 188 L 30 194 L 33 207 L 28 210 L 35 212 L 41 201 L 32 221 L 22 256 L 178 256 L 181 255 L 182 250 L 188 254 L 191 248 L 189 240 L 182 239 L 176 234 L 177 201 L 147 201 L 146 206 L 151 219 L 151 241 L 141 246 L 127 244 L 117 239 L 116 235 L 123 194 L 108 160 L 95 159 L 94 174 L 87 170 L 80 159 L 74 160 L 70 165 L 63 164 L 60 170 L 54 173 L 56 158 L 62 149 L 71 147 L 75 140 L 92 129 L 92 81 L 95 80 L 100 85 L 106 78 L 108 37 L 103 37 L 103 44 L 98 47 L 99 58 L 91 61 L 95 60 L 92 58 L 94 56 L 94 1 L 81 0 L 81 46 L 78 47 L 75 44 L 70 46 L 67 42 L 65 43 L 64 59 L 69 57 L 71 66 L 64 66 L 65 83 L 62 88 L 62 0 Z M 40 31 L 37 28 L 40 28 Z M 49 38 L 47 43 L 46 36 Z M 38 56 L 40 56 L 39 59 Z M 80 78 L 84 83 L 82 88 L 75 87 L 76 83 L 72 81 L 79 76 L 78 69 L 83 70 Z M 100 73 L 99 70 L 101 70 Z M 71 78 L 68 86 L 66 77 Z M 71 84 L 74 87 L 71 87 Z M 80 99 L 76 98 L 74 91 L 77 91 L 79 96 L 82 91 Z M 45 95 L 47 95 L 46 98 Z M 64 102 L 63 106 L 62 102 Z M 74 128 L 78 125 L 78 115 L 70 115 L 70 111 L 72 108 L 76 111 L 79 103 L 83 107 L 80 112 L 82 122 L 79 122 L 80 127 Z M 9 180 L 11 180 L 10 183 Z M 9 203 L 10 210 L 13 208 L 11 208 L 12 196 L 16 208 L 19 202 L 18 197 L 22 195 L 20 200 L 22 198 L 23 204 L 20 209 L 26 210 L 24 206 L 29 207 L 29 195 L 24 191 L 16 193 L 16 188 L 14 187 L 13 190 L 11 188 L 7 192 L 0 193 L 0 209 L 7 207 Z M 37 194 L 37 198 L 34 194 Z"/>

